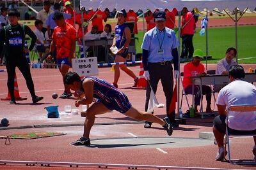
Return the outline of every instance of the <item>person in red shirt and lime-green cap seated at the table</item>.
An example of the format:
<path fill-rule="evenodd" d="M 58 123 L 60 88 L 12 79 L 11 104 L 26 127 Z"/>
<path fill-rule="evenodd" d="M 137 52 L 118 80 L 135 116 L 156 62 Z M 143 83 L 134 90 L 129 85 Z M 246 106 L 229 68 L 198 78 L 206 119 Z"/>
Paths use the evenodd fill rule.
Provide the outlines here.
<path fill-rule="evenodd" d="M 206 73 L 204 72 L 204 65 L 201 64 L 201 60 L 203 57 L 203 52 L 200 49 L 196 49 L 193 55 L 193 60 L 188 62 L 184 66 L 184 78 L 183 78 L 183 87 L 186 94 L 192 94 L 193 92 L 193 85 L 192 85 L 192 78 L 193 76 L 202 76 Z M 202 94 L 205 94 L 207 106 L 206 112 L 212 112 L 211 109 L 211 92 L 212 89 L 208 85 L 202 85 Z M 194 94 L 195 94 L 195 111 L 197 111 L 197 106 L 200 105 L 200 85 L 194 85 Z"/>

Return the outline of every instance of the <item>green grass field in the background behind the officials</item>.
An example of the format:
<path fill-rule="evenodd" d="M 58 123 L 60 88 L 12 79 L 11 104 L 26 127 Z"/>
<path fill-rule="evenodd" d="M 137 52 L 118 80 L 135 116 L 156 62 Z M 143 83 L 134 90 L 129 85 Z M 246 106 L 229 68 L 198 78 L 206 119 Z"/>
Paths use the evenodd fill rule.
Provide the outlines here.
<path fill-rule="evenodd" d="M 239 26 L 238 27 L 238 59 L 239 63 L 255 64 L 256 63 L 256 26 Z M 205 53 L 205 36 L 199 35 L 200 29 L 196 29 L 196 34 L 193 37 L 194 48 L 200 48 Z M 225 57 L 225 52 L 228 47 L 236 46 L 236 32 L 234 27 L 209 28 L 209 55 L 212 56 L 208 63 L 217 63 L 218 60 Z M 141 53 L 141 43 L 143 41 L 143 31 L 136 35 L 136 52 Z M 180 39 L 181 41 L 181 39 Z M 181 42 L 180 42 L 181 43 Z M 253 58 L 251 58 L 253 57 Z M 250 59 L 246 59 L 250 58 Z M 205 62 L 205 61 L 203 61 Z"/>

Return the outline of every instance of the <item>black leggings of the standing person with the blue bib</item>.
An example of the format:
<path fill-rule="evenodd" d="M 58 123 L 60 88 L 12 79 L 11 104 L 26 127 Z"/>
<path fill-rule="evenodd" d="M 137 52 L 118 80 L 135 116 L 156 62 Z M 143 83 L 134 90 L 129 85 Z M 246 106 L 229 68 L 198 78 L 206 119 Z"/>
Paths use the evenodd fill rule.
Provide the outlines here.
<path fill-rule="evenodd" d="M 34 83 L 31 77 L 30 73 L 30 67 L 26 60 L 25 56 L 15 56 L 15 59 L 10 56 L 6 57 L 6 69 L 8 74 L 8 80 L 7 80 L 7 87 L 10 92 L 10 96 L 12 99 L 15 99 L 14 97 L 14 78 L 15 78 L 15 68 L 18 67 L 22 75 L 24 76 L 26 80 L 27 87 L 29 89 L 29 92 L 31 94 L 31 97 L 35 97 L 35 89 L 34 89 Z"/>

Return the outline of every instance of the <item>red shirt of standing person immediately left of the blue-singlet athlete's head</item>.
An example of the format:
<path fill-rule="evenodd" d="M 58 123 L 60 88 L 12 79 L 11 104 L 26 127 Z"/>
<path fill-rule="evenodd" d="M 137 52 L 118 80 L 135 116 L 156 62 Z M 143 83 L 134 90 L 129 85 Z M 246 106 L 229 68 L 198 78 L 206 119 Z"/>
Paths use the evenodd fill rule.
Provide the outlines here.
<path fill-rule="evenodd" d="M 93 15 L 94 15 L 94 17 L 93 17 Z M 88 17 L 89 18 L 93 17 L 92 25 L 97 25 L 98 26 L 97 33 L 99 33 L 99 34 L 102 33 L 103 30 L 104 30 L 102 21 L 104 20 L 104 22 L 107 22 L 107 15 L 106 15 L 106 13 L 104 13 L 103 11 L 101 11 L 99 9 L 97 11 L 90 10 L 89 13 L 88 13 Z"/>

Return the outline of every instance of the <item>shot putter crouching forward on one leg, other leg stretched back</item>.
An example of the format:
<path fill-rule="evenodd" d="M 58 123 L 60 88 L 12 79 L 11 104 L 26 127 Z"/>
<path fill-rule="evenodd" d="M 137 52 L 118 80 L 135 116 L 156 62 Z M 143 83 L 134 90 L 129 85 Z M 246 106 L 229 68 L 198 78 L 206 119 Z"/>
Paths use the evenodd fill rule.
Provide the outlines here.
<path fill-rule="evenodd" d="M 86 105 L 91 104 L 93 100 L 95 101 L 86 111 L 83 137 L 72 142 L 72 145 L 89 146 L 91 144 L 89 135 L 94 124 L 95 115 L 107 113 L 109 110 L 119 111 L 125 116 L 136 120 L 146 120 L 160 124 L 164 127 L 164 130 L 167 131 L 169 136 L 172 135 L 173 129 L 168 117 L 162 120 L 150 113 L 136 110 L 136 108 L 132 107 L 129 99 L 123 92 L 104 80 L 91 76 L 86 76 L 81 80 L 77 73 L 70 71 L 65 75 L 64 83 L 71 90 L 81 90 L 84 92 L 84 99 L 76 101 L 76 107 L 80 104 Z"/>

